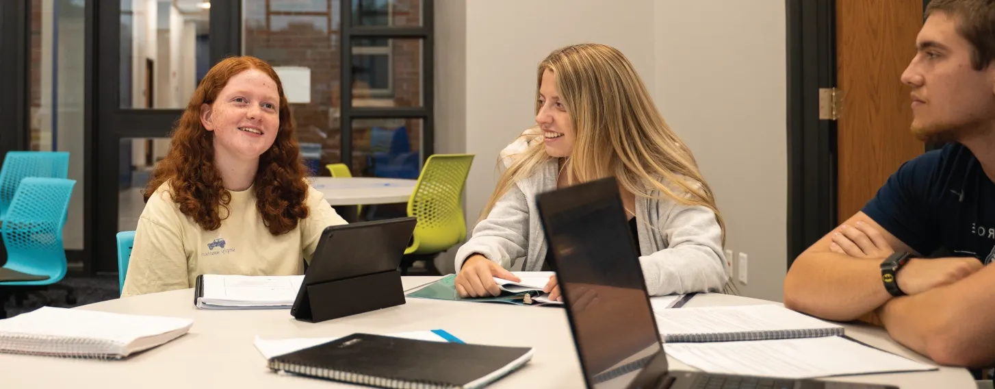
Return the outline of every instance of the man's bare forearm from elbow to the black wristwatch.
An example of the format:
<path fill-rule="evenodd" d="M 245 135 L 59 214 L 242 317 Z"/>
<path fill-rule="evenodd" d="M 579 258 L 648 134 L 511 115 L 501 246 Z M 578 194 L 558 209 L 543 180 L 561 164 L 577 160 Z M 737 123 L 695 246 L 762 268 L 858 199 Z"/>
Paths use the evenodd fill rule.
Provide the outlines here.
<path fill-rule="evenodd" d="M 881 282 L 882 261 L 835 253 L 803 254 L 784 280 L 784 304 L 830 320 L 860 318 L 892 297 Z"/>

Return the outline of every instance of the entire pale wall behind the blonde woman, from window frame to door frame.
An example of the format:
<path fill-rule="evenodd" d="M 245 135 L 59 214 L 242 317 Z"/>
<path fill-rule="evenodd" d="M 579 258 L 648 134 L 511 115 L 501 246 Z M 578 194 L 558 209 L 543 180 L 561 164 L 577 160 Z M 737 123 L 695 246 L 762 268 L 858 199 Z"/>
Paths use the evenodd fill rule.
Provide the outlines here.
<path fill-rule="evenodd" d="M 468 228 L 494 190 L 497 152 L 534 123 L 538 62 L 561 46 L 606 44 L 632 61 L 695 152 L 725 217 L 727 248 L 750 258 L 748 283 L 737 282 L 740 292 L 781 300 L 787 262 L 783 1 L 475 0 L 436 8 L 436 151 L 477 154 L 466 190 Z M 453 271 L 451 261 L 439 265 Z"/>

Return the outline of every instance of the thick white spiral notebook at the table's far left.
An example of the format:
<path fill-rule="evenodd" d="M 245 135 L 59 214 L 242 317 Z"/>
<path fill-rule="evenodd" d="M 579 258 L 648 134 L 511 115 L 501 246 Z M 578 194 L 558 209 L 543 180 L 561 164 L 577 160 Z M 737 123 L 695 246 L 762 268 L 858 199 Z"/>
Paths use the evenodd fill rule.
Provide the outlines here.
<path fill-rule="evenodd" d="M 120 359 L 185 334 L 191 318 L 44 306 L 0 320 L 0 352 Z"/>

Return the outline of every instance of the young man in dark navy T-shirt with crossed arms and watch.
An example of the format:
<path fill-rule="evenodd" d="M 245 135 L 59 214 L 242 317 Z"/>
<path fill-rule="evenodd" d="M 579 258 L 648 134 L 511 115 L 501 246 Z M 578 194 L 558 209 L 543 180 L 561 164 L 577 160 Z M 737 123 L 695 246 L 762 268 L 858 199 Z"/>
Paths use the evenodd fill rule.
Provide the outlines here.
<path fill-rule="evenodd" d="M 901 82 L 911 130 L 948 142 L 795 261 L 784 302 L 867 318 L 941 364 L 995 364 L 995 0 L 932 0 Z M 946 258 L 919 259 L 942 249 Z"/>

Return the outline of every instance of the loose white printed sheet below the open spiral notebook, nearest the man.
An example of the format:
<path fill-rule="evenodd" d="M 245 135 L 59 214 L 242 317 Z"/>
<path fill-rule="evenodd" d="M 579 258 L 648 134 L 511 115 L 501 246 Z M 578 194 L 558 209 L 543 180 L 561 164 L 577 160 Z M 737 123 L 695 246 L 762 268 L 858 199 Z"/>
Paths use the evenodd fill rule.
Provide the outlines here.
<path fill-rule="evenodd" d="M 935 370 L 840 336 L 706 343 L 667 343 L 667 354 L 708 373 L 815 378 Z"/>

